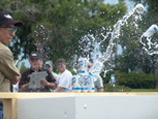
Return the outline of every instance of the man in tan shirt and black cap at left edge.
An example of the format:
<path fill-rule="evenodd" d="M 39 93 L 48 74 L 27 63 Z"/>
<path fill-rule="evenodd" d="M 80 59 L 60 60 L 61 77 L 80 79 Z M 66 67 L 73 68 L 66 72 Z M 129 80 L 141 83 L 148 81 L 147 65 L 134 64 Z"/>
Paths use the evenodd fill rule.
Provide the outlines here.
<path fill-rule="evenodd" d="M 21 21 L 14 21 L 6 12 L 0 12 L 0 92 L 10 92 L 10 83 L 16 84 L 20 71 L 14 65 L 14 58 L 9 45 L 16 33 L 15 26 L 22 26 Z M 0 101 L 0 119 L 3 119 L 3 106 Z"/>

